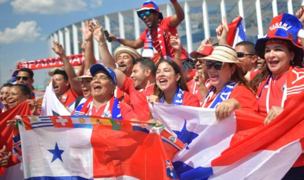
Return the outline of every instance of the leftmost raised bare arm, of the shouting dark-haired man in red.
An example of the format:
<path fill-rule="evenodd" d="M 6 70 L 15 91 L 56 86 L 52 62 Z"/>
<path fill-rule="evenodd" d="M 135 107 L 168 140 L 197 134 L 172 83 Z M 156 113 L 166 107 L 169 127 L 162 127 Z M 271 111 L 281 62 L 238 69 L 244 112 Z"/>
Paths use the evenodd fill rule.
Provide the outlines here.
<path fill-rule="evenodd" d="M 78 94 L 81 94 L 82 93 L 81 85 L 80 85 L 79 81 L 73 80 L 77 76 L 74 72 L 74 68 L 72 67 L 70 61 L 67 59 L 67 56 L 64 53 L 62 45 L 55 41 L 53 41 L 53 44 L 54 44 L 54 47 L 52 47 L 52 49 L 56 54 L 58 54 L 58 56 L 61 57 L 61 60 L 63 62 L 63 66 L 64 66 L 64 70 L 66 71 L 67 76 L 69 78 L 69 82 L 71 84 L 71 88 L 73 88 L 75 90 L 75 92 L 77 92 Z"/>

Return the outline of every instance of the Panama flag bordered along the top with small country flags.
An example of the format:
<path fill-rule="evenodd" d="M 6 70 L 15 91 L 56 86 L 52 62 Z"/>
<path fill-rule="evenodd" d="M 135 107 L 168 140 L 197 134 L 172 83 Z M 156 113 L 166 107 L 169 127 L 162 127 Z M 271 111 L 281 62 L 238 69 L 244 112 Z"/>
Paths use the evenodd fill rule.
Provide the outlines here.
<path fill-rule="evenodd" d="M 153 125 L 97 116 L 22 116 L 24 177 L 176 179 L 172 158 L 183 143 Z"/>

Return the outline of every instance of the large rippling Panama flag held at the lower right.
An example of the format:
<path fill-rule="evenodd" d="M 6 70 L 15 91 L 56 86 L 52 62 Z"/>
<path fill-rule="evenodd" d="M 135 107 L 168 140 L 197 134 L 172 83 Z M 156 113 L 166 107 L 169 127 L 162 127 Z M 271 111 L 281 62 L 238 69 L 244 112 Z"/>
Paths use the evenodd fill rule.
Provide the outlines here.
<path fill-rule="evenodd" d="M 185 144 L 173 158 L 179 178 L 281 179 L 292 165 L 303 166 L 303 101 L 286 100 L 268 125 L 242 110 L 218 121 L 214 109 L 155 103 L 152 114 Z"/>

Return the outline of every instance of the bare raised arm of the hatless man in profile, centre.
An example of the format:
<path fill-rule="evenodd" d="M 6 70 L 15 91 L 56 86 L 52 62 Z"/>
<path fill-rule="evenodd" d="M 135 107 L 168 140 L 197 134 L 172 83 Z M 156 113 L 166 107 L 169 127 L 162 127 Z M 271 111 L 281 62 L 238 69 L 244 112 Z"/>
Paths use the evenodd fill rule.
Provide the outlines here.
<path fill-rule="evenodd" d="M 122 84 L 127 76 L 122 71 L 116 68 L 115 61 L 111 56 L 108 50 L 107 43 L 104 39 L 104 31 L 102 26 L 99 24 L 98 21 L 96 21 L 96 24 L 90 22 L 90 31 L 93 32 L 94 38 L 99 43 L 99 52 L 102 63 L 104 64 L 104 66 L 114 70 L 117 77 L 117 87 L 122 88 Z"/>

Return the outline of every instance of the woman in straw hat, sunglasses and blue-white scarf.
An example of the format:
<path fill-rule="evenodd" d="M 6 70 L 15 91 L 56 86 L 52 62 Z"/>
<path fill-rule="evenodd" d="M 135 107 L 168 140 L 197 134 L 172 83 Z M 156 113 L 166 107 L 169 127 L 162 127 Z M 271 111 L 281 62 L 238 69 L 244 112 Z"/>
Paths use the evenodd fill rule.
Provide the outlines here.
<path fill-rule="evenodd" d="M 237 52 L 233 48 L 219 45 L 202 60 L 211 81 L 202 107 L 216 108 L 218 119 L 226 118 L 234 109 L 258 111 L 254 91 L 244 77 L 246 67 L 237 60 Z"/>

